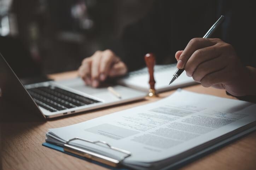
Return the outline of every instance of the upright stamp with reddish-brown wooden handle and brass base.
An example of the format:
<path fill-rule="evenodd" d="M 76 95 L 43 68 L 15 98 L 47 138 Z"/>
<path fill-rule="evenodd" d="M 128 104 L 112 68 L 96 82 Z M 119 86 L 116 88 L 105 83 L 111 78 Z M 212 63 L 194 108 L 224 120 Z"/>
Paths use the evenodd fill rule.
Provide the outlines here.
<path fill-rule="evenodd" d="M 149 70 L 149 84 L 150 84 L 150 89 L 149 89 L 149 94 L 148 96 L 156 96 L 156 90 L 155 90 L 155 79 L 154 79 L 154 66 L 155 66 L 155 55 L 153 53 L 147 53 L 145 56 L 145 62 L 147 65 L 147 68 Z"/>

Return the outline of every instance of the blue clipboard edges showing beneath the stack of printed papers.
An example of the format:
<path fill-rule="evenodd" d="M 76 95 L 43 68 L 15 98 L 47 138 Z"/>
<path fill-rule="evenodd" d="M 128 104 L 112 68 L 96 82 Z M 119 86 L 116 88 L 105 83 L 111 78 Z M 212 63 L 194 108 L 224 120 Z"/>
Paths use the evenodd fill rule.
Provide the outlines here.
<path fill-rule="evenodd" d="M 223 140 L 223 141 L 221 141 L 221 142 L 219 142 L 219 143 L 217 143 L 217 144 L 215 144 L 213 146 L 210 146 L 210 147 L 208 147 L 208 148 L 206 148 L 206 149 L 204 149 L 202 151 L 199 151 L 199 152 L 197 152 L 197 153 L 195 153 L 195 154 L 193 154 L 191 156 L 188 156 L 188 157 L 186 157 L 186 158 L 184 158 L 184 159 L 182 159 L 182 160 L 180 160 L 180 161 L 178 161 L 178 162 L 176 162 L 174 164 L 166 166 L 163 169 L 174 169 L 174 168 L 177 169 L 177 168 L 181 168 L 185 164 L 191 163 L 192 161 L 194 161 L 194 160 L 196 160 L 196 159 L 198 159 L 198 158 L 200 158 L 200 157 L 202 157 L 204 155 L 207 155 L 208 153 L 213 152 L 214 150 L 219 149 L 220 147 L 225 146 L 225 145 L 231 143 L 232 141 L 237 140 L 237 139 L 239 139 L 239 138 L 245 136 L 246 134 L 249 134 L 249 133 L 251 133 L 251 132 L 253 132 L 255 130 L 256 130 L 256 126 L 251 127 L 248 130 L 245 130 L 245 131 L 243 131 L 243 132 L 241 132 L 241 133 L 239 133 L 239 134 L 237 134 L 237 135 L 235 135 L 235 136 L 233 136 L 231 138 Z M 112 169 L 112 170 L 127 170 L 127 169 L 124 169 L 122 167 L 121 168 L 113 168 L 113 167 L 111 167 L 109 165 L 105 165 L 103 163 L 100 163 L 100 162 L 97 162 L 97 161 L 94 161 L 94 160 L 91 160 L 91 159 L 88 159 L 88 158 L 77 156 L 77 155 L 75 155 L 73 153 L 65 152 L 62 146 L 58 146 L 58 145 L 47 143 L 47 142 L 42 143 L 42 145 L 45 146 L 45 147 L 48 147 L 50 149 L 54 149 L 54 150 L 66 153 L 68 155 L 71 155 L 71 156 L 74 156 L 74 157 L 86 160 L 88 162 L 91 162 L 91 163 L 103 166 L 103 167 L 108 168 L 108 169 Z"/>

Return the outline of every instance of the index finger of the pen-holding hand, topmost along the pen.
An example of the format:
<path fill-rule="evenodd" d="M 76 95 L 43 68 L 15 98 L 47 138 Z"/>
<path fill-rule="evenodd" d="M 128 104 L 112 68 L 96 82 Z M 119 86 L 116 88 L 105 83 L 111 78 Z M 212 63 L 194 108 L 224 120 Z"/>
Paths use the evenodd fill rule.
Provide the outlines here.
<path fill-rule="evenodd" d="M 186 48 L 184 51 L 181 53 L 178 63 L 177 63 L 177 68 L 178 69 L 183 69 L 188 58 L 198 49 L 205 48 L 207 46 L 212 46 L 216 44 L 215 39 L 208 39 L 208 38 L 193 38 L 190 40 L 190 42 L 187 44 Z"/>

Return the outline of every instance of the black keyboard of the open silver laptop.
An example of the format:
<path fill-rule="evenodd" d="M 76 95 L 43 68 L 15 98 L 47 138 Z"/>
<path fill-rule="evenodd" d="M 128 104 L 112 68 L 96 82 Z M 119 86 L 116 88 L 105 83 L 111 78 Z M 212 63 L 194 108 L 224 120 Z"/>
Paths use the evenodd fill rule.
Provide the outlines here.
<path fill-rule="evenodd" d="M 50 112 L 100 102 L 54 86 L 36 87 L 27 90 L 38 106 Z"/>

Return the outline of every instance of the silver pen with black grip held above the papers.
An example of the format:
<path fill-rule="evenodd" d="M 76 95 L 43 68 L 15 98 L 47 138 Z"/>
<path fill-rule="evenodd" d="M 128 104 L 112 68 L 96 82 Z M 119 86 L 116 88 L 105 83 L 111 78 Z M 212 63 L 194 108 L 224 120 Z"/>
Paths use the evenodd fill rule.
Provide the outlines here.
<path fill-rule="evenodd" d="M 224 15 L 221 15 L 221 17 L 216 21 L 216 23 L 213 24 L 213 26 L 211 26 L 211 28 L 206 32 L 206 34 L 203 36 L 203 38 L 209 38 L 211 36 L 211 34 L 217 29 L 217 27 L 222 23 L 222 21 L 224 20 Z M 171 79 L 169 85 L 174 82 L 174 80 L 176 80 L 181 73 L 184 71 L 185 69 L 178 69 L 174 75 L 173 78 Z"/>

